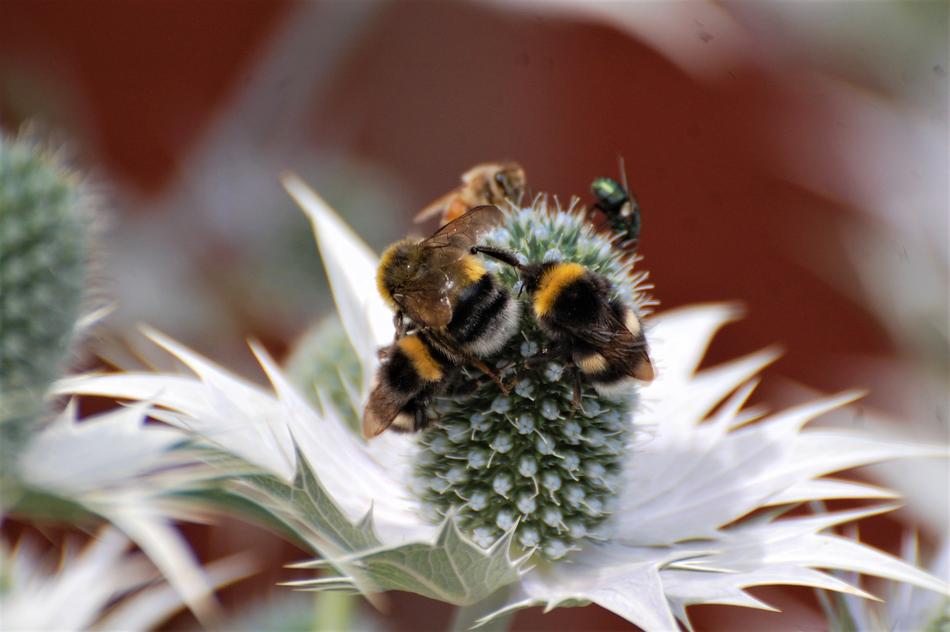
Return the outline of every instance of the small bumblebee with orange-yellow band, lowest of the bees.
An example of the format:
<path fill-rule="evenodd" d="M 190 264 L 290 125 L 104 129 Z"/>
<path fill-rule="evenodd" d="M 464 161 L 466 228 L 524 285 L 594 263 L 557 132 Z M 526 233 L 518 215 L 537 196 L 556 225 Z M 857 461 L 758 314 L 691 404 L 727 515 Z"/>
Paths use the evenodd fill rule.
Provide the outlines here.
<path fill-rule="evenodd" d="M 428 425 L 426 408 L 445 381 L 450 363 L 421 334 L 403 336 L 380 351 L 382 362 L 363 411 L 367 439 L 388 428 L 417 432 Z"/>

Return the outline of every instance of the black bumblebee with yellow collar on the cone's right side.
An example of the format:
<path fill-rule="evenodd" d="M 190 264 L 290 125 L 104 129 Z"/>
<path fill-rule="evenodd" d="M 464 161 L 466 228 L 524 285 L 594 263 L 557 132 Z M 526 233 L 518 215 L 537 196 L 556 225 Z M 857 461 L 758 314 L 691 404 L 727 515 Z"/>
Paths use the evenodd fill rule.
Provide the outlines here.
<path fill-rule="evenodd" d="M 653 381 L 643 323 L 634 310 L 611 298 L 613 288 L 606 277 L 579 263 L 521 265 L 513 253 L 491 247 L 476 250 L 519 269 L 538 325 L 564 345 L 598 391 L 618 393 L 629 378 Z"/>

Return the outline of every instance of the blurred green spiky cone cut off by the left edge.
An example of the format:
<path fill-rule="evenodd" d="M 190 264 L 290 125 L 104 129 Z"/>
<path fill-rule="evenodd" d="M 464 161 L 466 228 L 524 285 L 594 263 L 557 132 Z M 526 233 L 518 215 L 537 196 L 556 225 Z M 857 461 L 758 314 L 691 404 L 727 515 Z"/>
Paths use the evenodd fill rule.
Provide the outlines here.
<path fill-rule="evenodd" d="M 93 198 L 59 156 L 0 133 L 0 421 L 15 450 L 66 368 L 88 277 Z M 6 459 L 5 459 L 6 460 Z"/>

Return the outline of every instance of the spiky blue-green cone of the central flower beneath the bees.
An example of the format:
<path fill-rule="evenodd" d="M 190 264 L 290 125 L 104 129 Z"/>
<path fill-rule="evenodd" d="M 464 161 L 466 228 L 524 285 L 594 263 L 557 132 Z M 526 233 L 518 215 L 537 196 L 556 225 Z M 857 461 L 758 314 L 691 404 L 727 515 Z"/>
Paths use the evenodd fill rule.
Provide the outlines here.
<path fill-rule="evenodd" d="M 511 209 L 486 241 L 529 262 L 580 263 L 610 281 L 611 298 L 634 310 L 646 302 L 644 275 L 633 275 L 631 259 L 596 233 L 582 210 L 562 211 L 539 197 L 529 208 Z M 519 294 L 514 268 L 489 266 Z M 599 394 L 550 345 L 531 310 L 522 310 L 520 333 L 493 358 L 513 388 L 505 394 L 474 371 L 470 395 L 439 398 L 412 484 L 434 517 L 457 515 L 479 545 L 515 529 L 523 548 L 558 559 L 585 540 L 607 537 L 636 392 Z"/>

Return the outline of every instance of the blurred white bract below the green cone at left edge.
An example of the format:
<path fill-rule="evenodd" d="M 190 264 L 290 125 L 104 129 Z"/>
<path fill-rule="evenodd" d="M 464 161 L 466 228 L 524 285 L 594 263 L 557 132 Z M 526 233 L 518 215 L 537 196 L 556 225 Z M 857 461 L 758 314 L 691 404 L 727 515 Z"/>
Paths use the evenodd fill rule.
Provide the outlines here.
<path fill-rule="evenodd" d="M 174 518 L 195 519 L 169 497 L 216 476 L 173 448 L 188 441 L 175 428 L 146 425 L 147 405 L 84 419 L 67 406 L 30 438 L 17 459 L 26 493 L 40 492 L 98 514 L 132 538 L 201 619 L 210 620 L 213 586 Z"/>

